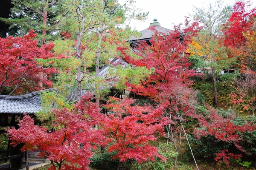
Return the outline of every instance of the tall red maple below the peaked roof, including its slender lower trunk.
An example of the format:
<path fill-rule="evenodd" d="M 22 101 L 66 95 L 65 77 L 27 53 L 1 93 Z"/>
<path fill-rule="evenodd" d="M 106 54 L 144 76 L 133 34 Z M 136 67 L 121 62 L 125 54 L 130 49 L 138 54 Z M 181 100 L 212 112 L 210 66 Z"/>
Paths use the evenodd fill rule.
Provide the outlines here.
<path fill-rule="evenodd" d="M 189 70 L 191 63 L 187 59 L 189 54 L 185 51 L 191 37 L 197 34 L 200 27 L 198 23 L 189 26 L 189 21 L 186 20 L 183 28 L 181 25 L 176 26 L 167 34 L 157 32 L 153 27 L 151 29 L 155 34 L 149 43 L 141 42 L 134 50 L 137 58 L 128 55 L 126 48 L 118 48 L 122 59 L 151 72 L 146 74 L 148 77 L 141 77 L 137 84 L 129 82 L 128 78 L 126 85 L 130 88 L 128 90 L 149 97 L 157 104 L 168 103 L 164 115 L 171 123 L 167 126 L 169 130 L 166 136 L 168 141 L 172 140 L 176 151 L 179 152 L 181 136 L 185 134 L 183 122 L 186 122 L 186 116 L 193 112 L 195 104 L 192 102 L 193 98 L 195 99 L 194 93 L 189 89 L 189 77 L 199 76 L 195 70 Z"/>

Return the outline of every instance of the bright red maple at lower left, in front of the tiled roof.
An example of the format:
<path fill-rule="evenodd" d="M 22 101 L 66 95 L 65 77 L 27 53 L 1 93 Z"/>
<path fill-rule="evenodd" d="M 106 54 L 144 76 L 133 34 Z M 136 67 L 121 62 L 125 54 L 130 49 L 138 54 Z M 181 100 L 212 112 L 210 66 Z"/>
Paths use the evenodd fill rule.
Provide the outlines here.
<path fill-rule="evenodd" d="M 39 149 L 39 156 L 51 161 L 49 169 L 88 169 L 96 144 L 103 141 L 102 130 L 96 130 L 101 115 L 96 103 L 90 102 L 87 94 L 76 104 L 76 110 L 67 108 L 52 110 L 52 128 L 34 125 L 34 120 L 25 115 L 19 128 L 8 130 L 12 145 L 24 143 L 22 151 Z M 78 113 L 77 109 L 80 110 Z"/>

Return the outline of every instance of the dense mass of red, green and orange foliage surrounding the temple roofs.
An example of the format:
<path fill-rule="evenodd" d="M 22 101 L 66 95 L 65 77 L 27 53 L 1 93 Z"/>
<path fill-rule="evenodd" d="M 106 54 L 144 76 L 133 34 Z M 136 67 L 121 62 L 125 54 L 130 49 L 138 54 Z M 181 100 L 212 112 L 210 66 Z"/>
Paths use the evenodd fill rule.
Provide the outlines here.
<path fill-rule="evenodd" d="M 59 91 L 76 87 L 77 102 L 66 101 L 68 92 L 41 94 L 35 118 L 41 125 L 24 114 L 19 128 L 8 130 L 12 145 L 39 149 L 52 170 L 164 170 L 192 159 L 197 169 L 206 160 L 218 166 L 210 169 L 255 168 L 256 10 L 250 2 L 195 8 L 195 20 L 166 34 L 152 26 L 151 40 L 132 49 L 125 40 L 135 31 L 119 26 L 144 19 L 146 13 L 128 6 L 133 1 L 13 2 L 9 32 L 25 35 L 0 38 L 0 94 L 27 94 L 54 82 Z M 21 20 L 29 23 L 15 23 Z M 28 31 L 34 27 L 38 35 Z M 111 65 L 112 57 L 127 64 Z M 111 68 L 100 77 L 106 65 Z M 82 88 L 92 92 L 82 96 Z"/>

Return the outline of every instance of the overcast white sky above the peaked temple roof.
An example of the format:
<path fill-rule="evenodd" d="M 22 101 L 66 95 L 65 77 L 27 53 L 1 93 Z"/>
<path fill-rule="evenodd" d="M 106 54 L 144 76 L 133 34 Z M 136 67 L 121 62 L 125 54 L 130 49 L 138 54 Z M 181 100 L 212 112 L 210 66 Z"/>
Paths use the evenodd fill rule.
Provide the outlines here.
<path fill-rule="evenodd" d="M 119 0 L 120 2 L 122 0 Z M 184 17 L 193 14 L 192 9 L 195 7 L 208 6 L 209 3 L 214 5 L 216 0 L 137 0 L 135 6 L 143 9 L 143 11 L 149 11 L 147 20 L 138 21 L 131 20 L 128 24 L 132 29 L 142 31 L 153 23 L 153 19 L 157 18 L 157 21 L 164 28 L 173 28 L 173 23 L 178 25 L 183 23 Z M 252 2 L 253 0 L 251 0 Z M 224 5 L 232 5 L 235 0 L 224 0 Z M 254 4 L 253 4 L 254 5 Z"/>

